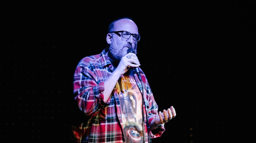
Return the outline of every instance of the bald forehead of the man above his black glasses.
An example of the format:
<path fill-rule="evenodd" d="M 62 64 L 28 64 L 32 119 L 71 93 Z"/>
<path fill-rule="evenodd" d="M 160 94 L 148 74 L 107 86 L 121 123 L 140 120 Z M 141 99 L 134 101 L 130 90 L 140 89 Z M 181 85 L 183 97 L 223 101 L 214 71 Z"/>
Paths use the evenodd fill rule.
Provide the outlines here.
<path fill-rule="evenodd" d="M 127 31 L 133 34 L 138 34 L 138 27 L 130 19 L 121 19 L 115 22 L 115 31 Z"/>

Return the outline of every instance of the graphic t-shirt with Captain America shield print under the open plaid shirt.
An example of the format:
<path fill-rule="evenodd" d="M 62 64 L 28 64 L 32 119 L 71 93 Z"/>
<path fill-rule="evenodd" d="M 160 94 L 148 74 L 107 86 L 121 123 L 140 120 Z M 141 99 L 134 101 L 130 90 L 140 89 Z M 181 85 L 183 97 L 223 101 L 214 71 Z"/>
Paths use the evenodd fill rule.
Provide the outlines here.
<path fill-rule="evenodd" d="M 134 80 L 133 70 L 120 77 L 117 89 L 122 108 L 125 143 L 143 142 L 142 95 Z"/>

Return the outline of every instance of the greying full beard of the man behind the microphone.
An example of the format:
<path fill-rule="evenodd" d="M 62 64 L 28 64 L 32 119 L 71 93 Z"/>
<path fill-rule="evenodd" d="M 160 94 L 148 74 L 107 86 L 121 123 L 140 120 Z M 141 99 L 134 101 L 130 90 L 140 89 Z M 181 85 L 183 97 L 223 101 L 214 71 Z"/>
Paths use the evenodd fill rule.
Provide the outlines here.
<path fill-rule="evenodd" d="M 130 44 L 123 45 L 120 43 L 116 43 L 115 41 L 111 42 L 111 44 L 109 45 L 109 52 L 110 52 L 109 56 L 111 56 L 110 58 L 113 62 L 119 63 L 122 57 L 127 54 L 126 48 L 123 48 L 123 47 L 132 48 L 132 45 Z M 134 52 L 137 53 L 137 44 L 135 44 Z"/>

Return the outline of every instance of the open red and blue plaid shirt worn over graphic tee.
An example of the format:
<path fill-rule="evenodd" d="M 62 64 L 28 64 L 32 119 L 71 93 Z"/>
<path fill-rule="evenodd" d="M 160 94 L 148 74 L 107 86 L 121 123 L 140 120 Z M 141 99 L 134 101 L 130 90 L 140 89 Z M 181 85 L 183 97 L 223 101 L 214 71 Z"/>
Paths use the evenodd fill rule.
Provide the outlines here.
<path fill-rule="evenodd" d="M 73 94 L 80 110 L 72 113 L 80 116 L 74 115 L 71 119 L 70 142 L 124 142 L 122 110 L 116 87 L 108 101 L 103 101 L 104 80 L 114 70 L 105 50 L 100 54 L 84 57 L 75 69 Z M 151 138 L 160 137 L 165 128 L 149 129 L 150 122 L 158 116 L 158 105 L 141 69 L 140 73 L 147 107 L 145 111 L 144 106 L 145 142 L 151 143 Z M 134 78 L 142 93 L 142 85 L 135 72 Z"/>

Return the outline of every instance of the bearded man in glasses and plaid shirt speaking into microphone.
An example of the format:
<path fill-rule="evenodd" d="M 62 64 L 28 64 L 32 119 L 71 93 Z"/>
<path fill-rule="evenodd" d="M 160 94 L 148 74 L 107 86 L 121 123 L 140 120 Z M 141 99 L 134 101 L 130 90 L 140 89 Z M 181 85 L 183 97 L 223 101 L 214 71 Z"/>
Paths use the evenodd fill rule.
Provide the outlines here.
<path fill-rule="evenodd" d="M 137 25 L 120 18 L 109 25 L 108 47 L 84 57 L 74 73 L 73 93 L 82 117 L 71 122 L 71 142 L 151 142 L 176 116 L 158 112 L 137 53 Z"/>

